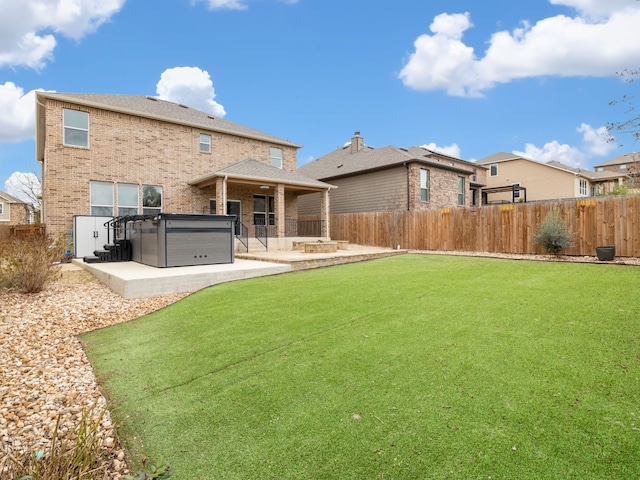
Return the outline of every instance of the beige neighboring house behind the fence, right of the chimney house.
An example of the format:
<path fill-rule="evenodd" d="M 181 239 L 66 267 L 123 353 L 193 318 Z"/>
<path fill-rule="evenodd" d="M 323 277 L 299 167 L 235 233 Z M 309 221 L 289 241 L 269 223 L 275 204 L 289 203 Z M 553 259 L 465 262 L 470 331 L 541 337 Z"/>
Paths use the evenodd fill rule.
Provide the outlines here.
<path fill-rule="evenodd" d="M 592 172 L 505 152 L 490 155 L 478 163 L 488 168 L 483 203 L 604 195 L 626 178 L 625 174 Z"/>

